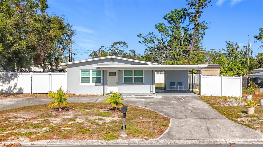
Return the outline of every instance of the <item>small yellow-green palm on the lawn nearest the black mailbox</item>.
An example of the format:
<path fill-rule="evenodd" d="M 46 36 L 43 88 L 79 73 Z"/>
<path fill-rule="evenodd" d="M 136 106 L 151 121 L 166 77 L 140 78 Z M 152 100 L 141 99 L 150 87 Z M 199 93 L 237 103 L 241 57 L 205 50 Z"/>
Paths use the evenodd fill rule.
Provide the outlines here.
<path fill-rule="evenodd" d="M 120 102 L 120 100 L 124 100 L 122 97 L 122 93 L 117 93 L 111 91 L 110 94 L 106 94 L 108 97 L 104 100 L 105 103 L 109 103 L 113 106 L 114 110 L 117 111 L 117 108 L 122 108 L 123 103 Z"/>

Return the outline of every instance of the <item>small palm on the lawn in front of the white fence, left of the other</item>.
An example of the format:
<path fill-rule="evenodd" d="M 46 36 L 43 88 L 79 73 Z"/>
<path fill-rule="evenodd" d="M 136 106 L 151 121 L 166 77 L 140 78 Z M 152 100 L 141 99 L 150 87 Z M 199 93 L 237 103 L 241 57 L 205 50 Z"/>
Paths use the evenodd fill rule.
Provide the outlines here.
<path fill-rule="evenodd" d="M 66 93 L 69 93 L 69 91 L 65 92 L 61 86 L 59 89 L 57 89 L 57 92 L 50 91 L 47 94 L 47 97 L 54 99 L 54 101 L 48 104 L 49 109 L 53 106 L 58 105 L 58 111 L 61 111 L 62 105 L 65 105 L 67 107 L 68 106 L 67 98 L 70 96 L 66 95 Z"/>

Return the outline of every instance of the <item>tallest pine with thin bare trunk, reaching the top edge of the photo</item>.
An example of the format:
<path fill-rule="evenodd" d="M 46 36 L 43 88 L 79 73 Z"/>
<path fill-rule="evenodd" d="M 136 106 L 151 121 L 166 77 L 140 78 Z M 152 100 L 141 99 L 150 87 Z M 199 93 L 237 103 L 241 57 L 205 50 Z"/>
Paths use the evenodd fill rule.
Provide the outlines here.
<path fill-rule="evenodd" d="M 192 42 L 191 42 L 191 49 L 190 49 L 191 52 L 194 49 L 195 36 L 196 36 L 196 32 L 198 31 L 198 26 L 200 23 L 198 19 L 201 17 L 201 14 L 203 13 L 202 10 L 205 8 L 208 8 L 207 4 L 210 2 L 211 2 L 210 0 L 189 0 L 188 1 L 187 5 L 189 6 L 189 9 L 193 10 L 193 12 L 190 12 L 190 14 L 192 15 L 192 21 L 194 21 L 194 30 L 193 30 L 193 37 L 192 37 Z"/>

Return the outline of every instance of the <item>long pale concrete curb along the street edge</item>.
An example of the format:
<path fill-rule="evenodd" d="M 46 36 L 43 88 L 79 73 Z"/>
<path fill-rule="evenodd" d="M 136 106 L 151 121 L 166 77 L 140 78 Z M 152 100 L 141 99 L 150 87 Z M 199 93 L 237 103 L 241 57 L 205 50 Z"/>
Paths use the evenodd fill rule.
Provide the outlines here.
<path fill-rule="evenodd" d="M 12 141 L 16 143 L 19 141 Z M 9 144 L 7 141 L 3 143 Z M 117 139 L 117 140 L 40 140 L 33 142 L 19 142 L 23 146 L 56 146 L 56 145 L 143 145 L 143 144 L 263 144 L 263 139 Z"/>

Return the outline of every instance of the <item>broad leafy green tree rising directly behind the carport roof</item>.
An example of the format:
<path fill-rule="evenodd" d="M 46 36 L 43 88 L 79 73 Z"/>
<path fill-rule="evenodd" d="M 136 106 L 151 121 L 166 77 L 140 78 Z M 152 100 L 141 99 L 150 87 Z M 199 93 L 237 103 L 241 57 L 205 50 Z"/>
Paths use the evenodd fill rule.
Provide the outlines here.
<path fill-rule="evenodd" d="M 163 19 L 167 23 L 155 25 L 158 35 L 149 32 L 147 35 L 141 33 L 137 35 L 142 39 L 139 43 L 146 46 L 143 60 L 161 61 L 162 64 L 187 64 L 187 57 L 190 52 L 191 38 L 193 36 L 193 23 L 191 13 L 188 8 L 171 10 Z M 204 31 L 208 29 L 205 22 L 196 25 L 196 38 L 194 52 L 204 52 L 201 41 L 205 35 Z M 196 54 L 195 54 L 196 55 Z M 194 59 L 197 56 L 189 56 L 190 64 L 204 64 L 206 61 Z M 202 57 L 205 58 L 205 57 Z M 198 63 L 195 63 L 198 61 Z"/>

